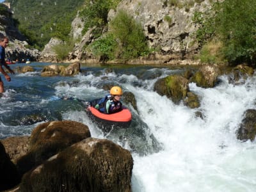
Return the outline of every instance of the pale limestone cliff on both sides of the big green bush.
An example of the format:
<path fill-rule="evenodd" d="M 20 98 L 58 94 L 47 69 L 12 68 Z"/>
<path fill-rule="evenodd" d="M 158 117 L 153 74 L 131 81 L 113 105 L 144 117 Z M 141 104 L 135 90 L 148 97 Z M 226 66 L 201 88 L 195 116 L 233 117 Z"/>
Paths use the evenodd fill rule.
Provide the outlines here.
<path fill-rule="evenodd" d="M 188 0 L 180 0 L 182 6 L 172 6 L 167 0 L 123 0 L 118 4 L 116 11 L 109 11 L 108 20 L 110 22 L 118 10 L 125 10 L 141 23 L 150 47 L 159 50 L 154 58 L 165 63 L 171 60 L 188 60 L 193 58 L 199 49 L 195 39 L 198 26 L 192 20 L 194 13 L 209 10 L 210 1 L 193 1 L 193 4 L 188 6 Z M 92 54 L 83 49 L 84 45 L 93 41 L 93 35 L 91 30 L 81 35 L 82 29 L 83 22 L 77 16 L 72 22 L 71 35 L 76 40 L 80 39 L 80 42 L 76 43 L 70 52 L 69 60 L 93 60 Z"/>

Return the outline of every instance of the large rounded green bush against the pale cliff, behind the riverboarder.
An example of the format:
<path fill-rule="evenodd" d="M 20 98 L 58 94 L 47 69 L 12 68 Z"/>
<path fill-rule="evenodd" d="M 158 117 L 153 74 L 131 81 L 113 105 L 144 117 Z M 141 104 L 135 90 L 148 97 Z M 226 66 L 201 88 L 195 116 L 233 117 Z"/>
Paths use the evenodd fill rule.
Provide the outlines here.
<path fill-rule="evenodd" d="M 141 24 L 123 10 L 109 23 L 108 34 L 93 42 L 91 48 L 101 60 L 128 60 L 149 52 Z"/>

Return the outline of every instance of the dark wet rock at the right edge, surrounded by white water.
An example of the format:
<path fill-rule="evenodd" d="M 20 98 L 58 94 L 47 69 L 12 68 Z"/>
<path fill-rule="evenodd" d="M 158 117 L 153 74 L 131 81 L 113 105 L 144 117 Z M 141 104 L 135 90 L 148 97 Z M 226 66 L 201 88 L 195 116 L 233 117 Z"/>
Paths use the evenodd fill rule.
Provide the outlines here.
<path fill-rule="evenodd" d="M 237 130 L 237 140 L 255 140 L 256 135 L 256 110 L 248 109 L 244 113 L 242 123 Z"/>

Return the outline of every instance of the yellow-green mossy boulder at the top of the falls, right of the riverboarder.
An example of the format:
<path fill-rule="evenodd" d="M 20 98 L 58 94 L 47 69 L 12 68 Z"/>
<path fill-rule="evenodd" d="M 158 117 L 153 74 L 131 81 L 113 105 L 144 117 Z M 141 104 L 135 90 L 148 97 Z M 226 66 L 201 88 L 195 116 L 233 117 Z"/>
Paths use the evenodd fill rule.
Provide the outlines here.
<path fill-rule="evenodd" d="M 182 76 L 173 75 L 159 79 L 154 84 L 154 91 L 159 95 L 166 95 L 172 99 L 175 104 L 178 104 L 182 99 L 185 99 L 189 92 L 188 79 Z"/>

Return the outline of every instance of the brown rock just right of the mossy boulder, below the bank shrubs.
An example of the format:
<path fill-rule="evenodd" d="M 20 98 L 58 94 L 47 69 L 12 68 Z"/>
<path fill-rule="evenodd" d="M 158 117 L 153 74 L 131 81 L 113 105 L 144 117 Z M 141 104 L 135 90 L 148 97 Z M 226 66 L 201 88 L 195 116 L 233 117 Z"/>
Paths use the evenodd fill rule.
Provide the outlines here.
<path fill-rule="evenodd" d="M 196 86 L 202 88 L 212 88 L 218 82 L 221 70 L 214 65 L 205 65 L 199 68 L 198 72 L 192 77 L 191 81 L 196 83 Z"/>

